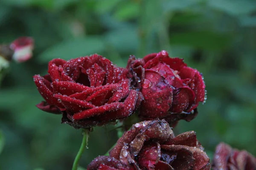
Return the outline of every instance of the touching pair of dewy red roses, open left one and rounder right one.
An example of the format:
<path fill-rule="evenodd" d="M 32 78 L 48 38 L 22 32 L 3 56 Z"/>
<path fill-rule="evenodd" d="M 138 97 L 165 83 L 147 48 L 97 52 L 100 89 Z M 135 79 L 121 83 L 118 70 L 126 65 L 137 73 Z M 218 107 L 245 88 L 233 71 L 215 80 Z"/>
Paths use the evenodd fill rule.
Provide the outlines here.
<path fill-rule="evenodd" d="M 124 119 L 139 107 L 141 120 L 166 119 L 175 126 L 180 119 L 195 118 L 205 98 L 201 74 L 166 51 L 143 59 L 131 56 L 127 68 L 98 54 L 53 59 L 48 74 L 35 75 L 34 82 L 45 99 L 37 107 L 62 114 L 62 122 L 76 128 Z"/>

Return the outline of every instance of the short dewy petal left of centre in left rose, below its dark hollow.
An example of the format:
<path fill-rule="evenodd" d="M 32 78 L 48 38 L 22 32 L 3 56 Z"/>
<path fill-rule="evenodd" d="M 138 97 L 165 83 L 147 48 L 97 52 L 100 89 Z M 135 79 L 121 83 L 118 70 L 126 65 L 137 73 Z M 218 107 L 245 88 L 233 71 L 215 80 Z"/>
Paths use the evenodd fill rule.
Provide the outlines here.
<path fill-rule="evenodd" d="M 65 82 L 65 81 L 58 81 L 52 82 L 53 91 L 55 94 L 65 94 L 67 96 L 75 93 L 81 93 L 87 89 L 90 89 L 87 86 L 79 85 L 76 82 Z"/>

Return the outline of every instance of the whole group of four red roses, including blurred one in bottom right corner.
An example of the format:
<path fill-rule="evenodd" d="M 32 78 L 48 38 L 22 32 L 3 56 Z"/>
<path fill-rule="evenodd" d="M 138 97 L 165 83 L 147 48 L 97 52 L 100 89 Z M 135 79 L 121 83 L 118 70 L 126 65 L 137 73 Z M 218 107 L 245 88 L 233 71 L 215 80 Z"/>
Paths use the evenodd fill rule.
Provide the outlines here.
<path fill-rule="evenodd" d="M 166 51 L 142 59 L 130 56 L 120 68 L 98 54 L 52 59 L 48 74 L 34 76 L 43 96 L 37 107 L 62 114 L 62 123 L 90 129 L 138 111 L 143 122 L 123 133 L 109 156 L 99 156 L 87 170 L 210 170 L 209 157 L 194 131 L 175 136 L 180 119 L 197 116 L 205 102 L 202 74 L 183 59 Z M 256 159 L 247 151 L 217 146 L 213 170 L 256 170 Z"/>

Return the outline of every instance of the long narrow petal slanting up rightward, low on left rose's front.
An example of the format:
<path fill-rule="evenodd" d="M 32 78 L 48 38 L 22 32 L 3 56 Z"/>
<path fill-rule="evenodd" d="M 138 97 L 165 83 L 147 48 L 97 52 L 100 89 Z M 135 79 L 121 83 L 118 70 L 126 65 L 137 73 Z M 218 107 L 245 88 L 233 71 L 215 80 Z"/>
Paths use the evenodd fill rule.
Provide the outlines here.
<path fill-rule="evenodd" d="M 87 110 L 81 111 L 80 113 L 75 113 L 73 115 L 73 118 L 86 119 L 92 116 L 103 114 L 105 112 L 119 110 L 119 109 L 122 109 L 123 107 L 124 107 L 124 104 L 122 102 L 114 102 L 108 105 L 87 109 Z"/>

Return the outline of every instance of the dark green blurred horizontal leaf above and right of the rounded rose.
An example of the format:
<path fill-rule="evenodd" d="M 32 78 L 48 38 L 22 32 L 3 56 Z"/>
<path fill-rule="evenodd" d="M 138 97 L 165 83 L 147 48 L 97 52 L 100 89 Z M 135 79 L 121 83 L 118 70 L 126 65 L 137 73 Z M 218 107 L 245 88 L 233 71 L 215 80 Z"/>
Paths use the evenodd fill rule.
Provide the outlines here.
<path fill-rule="evenodd" d="M 214 32 L 183 32 L 170 36 L 172 45 L 188 45 L 208 50 L 224 49 L 230 45 L 230 36 Z"/>

